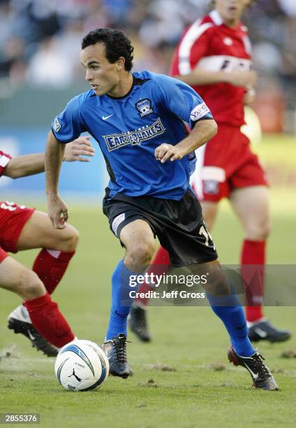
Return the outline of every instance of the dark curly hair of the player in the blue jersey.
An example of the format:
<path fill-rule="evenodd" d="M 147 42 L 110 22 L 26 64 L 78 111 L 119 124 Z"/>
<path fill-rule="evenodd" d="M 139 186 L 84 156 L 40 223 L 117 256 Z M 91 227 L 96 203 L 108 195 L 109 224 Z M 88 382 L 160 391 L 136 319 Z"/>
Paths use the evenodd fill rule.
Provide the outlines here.
<path fill-rule="evenodd" d="M 131 71 L 133 68 L 133 46 L 122 31 L 112 28 L 98 28 L 90 31 L 82 39 L 81 48 L 84 49 L 100 42 L 104 43 L 105 55 L 111 64 L 114 64 L 119 57 L 124 57 L 126 60 L 124 68 L 126 71 Z"/>

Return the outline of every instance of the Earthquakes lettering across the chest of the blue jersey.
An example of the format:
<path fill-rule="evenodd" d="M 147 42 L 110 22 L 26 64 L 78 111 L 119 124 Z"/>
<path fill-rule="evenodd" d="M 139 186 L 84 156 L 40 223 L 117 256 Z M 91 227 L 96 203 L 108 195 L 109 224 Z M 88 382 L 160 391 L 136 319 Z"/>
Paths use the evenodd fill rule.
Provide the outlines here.
<path fill-rule="evenodd" d="M 106 146 L 109 152 L 117 150 L 124 145 L 135 145 L 140 144 L 142 141 L 147 141 L 156 135 L 163 134 L 165 127 L 161 122 L 161 118 L 151 124 L 150 126 L 142 127 L 135 131 L 121 132 L 121 134 L 103 135 Z"/>

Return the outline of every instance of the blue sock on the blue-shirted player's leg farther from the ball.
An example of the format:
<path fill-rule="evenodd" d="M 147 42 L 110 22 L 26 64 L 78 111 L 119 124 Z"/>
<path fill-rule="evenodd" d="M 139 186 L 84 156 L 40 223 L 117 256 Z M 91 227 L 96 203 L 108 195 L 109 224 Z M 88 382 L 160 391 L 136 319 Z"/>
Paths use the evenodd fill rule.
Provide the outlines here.
<path fill-rule="evenodd" d="M 246 316 L 233 287 L 231 294 L 214 297 L 212 294 L 207 293 L 207 299 L 214 313 L 223 321 L 235 352 L 242 357 L 253 355 L 256 350 L 249 340 Z"/>

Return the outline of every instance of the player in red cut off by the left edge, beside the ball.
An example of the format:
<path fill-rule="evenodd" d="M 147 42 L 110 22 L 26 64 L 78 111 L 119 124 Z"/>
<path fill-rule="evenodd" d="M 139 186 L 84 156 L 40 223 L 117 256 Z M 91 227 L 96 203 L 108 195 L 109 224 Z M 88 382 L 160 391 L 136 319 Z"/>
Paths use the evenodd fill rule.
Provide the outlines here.
<path fill-rule="evenodd" d="M 67 145 L 64 160 L 86 162 L 94 149 L 88 137 Z M 44 171 L 44 155 L 11 158 L 0 151 L 0 177 L 19 178 Z M 75 337 L 50 294 L 63 277 L 73 257 L 78 232 L 67 224 L 52 229 L 45 213 L 34 208 L 0 201 L 0 287 L 18 294 L 24 304 L 8 317 L 8 328 L 22 333 L 45 355 L 57 355 L 58 348 Z M 33 269 L 27 269 L 7 252 L 42 248 Z"/>

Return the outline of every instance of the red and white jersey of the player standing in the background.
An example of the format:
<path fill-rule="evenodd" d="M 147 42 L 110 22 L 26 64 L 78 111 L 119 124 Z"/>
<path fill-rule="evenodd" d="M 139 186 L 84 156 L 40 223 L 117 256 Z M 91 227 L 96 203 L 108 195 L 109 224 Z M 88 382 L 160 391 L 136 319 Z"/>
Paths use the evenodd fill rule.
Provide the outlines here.
<path fill-rule="evenodd" d="M 217 10 L 195 21 L 182 35 L 175 50 L 171 76 L 186 75 L 195 68 L 207 71 L 249 71 L 251 43 L 242 23 L 233 29 L 223 24 Z M 218 123 L 244 124 L 244 87 L 229 83 L 193 86 Z"/>

